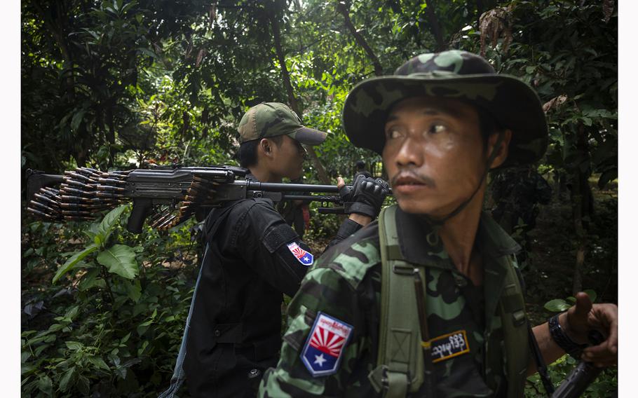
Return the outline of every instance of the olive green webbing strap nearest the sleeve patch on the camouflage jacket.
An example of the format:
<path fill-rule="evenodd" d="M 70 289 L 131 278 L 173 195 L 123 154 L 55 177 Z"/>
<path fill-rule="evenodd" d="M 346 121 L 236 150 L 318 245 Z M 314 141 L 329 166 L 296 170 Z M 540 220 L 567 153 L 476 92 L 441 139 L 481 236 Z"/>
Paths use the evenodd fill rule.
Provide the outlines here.
<path fill-rule="evenodd" d="M 400 259 L 396 205 L 379 214 L 381 315 L 377 367 L 368 378 L 384 397 L 406 397 L 423 384 L 423 350 L 414 291 L 414 266 Z M 419 268 L 421 280 L 425 271 Z"/>

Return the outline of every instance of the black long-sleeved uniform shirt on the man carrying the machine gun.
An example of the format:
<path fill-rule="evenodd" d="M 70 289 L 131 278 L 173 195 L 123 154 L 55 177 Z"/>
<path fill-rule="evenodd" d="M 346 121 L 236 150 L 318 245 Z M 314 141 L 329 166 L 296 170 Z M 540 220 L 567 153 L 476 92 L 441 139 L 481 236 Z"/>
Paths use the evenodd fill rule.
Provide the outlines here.
<path fill-rule="evenodd" d="M 346 220 L 330 245 L 358 228 Z M 266 198 L 213 210 L 205 233 L 186 383 L 193 397 L 254 397 L 262 371 L 277 362 L 283 293 L 295 294 L 310 265 L 297 259 L 294 245 L 309 248 Z"/>

